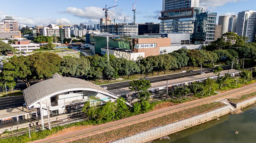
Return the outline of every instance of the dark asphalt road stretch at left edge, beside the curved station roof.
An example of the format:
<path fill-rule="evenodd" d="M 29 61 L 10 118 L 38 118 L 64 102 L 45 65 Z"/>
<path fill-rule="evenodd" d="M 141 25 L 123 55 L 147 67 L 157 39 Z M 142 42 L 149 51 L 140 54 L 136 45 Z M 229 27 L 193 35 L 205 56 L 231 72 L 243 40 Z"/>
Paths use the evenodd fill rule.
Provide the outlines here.
<path fill-rule="evenodd" d="M 0 110 L 20 107 L 25 103 L 23 96 L 13 96 L 13 97 L 2 97 L 0 98 Z"/>

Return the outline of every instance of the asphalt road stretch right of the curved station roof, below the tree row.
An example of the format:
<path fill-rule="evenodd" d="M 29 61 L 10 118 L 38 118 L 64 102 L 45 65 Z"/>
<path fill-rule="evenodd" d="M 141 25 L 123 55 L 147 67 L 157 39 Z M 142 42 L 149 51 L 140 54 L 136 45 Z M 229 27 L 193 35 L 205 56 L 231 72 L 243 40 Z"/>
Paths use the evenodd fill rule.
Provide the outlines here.
<path fill-rule="evenodd" d="M 231 69 L 230 66 L 222 66 L 222 68 L 223 68 L 223 70 Z M 212 69 L 213 68 L 203 69 L 202 72 L 211 73 Z M 155 83 L 155 82 L 160 82 L 160 81 L 176 79 L 176 78 L 180 78 L 180 77 L 195 76 L 195 75 L 199 75 L 199 74 L 200 74 L 200 70 L 197 70 L 192 73 L 186 72 L 186 73 L 171 74 L 171 75 L 159 76 L 159 77 L 150 77 L 149 81 L 150 81 L 150 83 Z M 113 89 L 118 89 L 118 88 L 129 87 L 130 86 L 129 82 L 130 81 L 112 83 L 112 84 L 107 84 L 107 85 L 101 85 L 101 87 L 107 87 L 108 90 L 113 90 Z"/>

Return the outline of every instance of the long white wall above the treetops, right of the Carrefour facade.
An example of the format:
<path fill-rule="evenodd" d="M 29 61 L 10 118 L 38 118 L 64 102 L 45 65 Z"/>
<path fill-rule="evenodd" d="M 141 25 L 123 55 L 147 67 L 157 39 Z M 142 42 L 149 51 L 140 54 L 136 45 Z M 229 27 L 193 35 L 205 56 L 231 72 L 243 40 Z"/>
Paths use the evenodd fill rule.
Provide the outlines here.
<path fill-rule="evenodd" d="M 171 53 L 178 49 L 201 49 L 203 45 L 183 45 L 183 46 L 168 46 L 168 47 L 160 47 L 159 54 L 162 53 L 163 50 L 166 50 L 167 53 Z"/>

